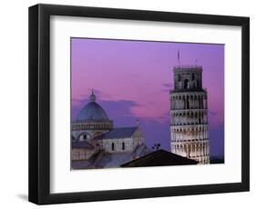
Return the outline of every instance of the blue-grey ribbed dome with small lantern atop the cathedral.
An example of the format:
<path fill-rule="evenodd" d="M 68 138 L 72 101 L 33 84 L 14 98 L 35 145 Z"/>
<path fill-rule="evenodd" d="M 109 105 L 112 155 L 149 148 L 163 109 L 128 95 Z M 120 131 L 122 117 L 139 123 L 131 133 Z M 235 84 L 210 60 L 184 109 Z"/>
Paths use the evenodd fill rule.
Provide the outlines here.
<path fill-rule="evenodd" d="M 90 102 L 77 114 L 77 121 L 109 121 L 108 114 L 106 114 L 104 109 L 95 101 L 96 95 L 94 95 L 92 91 Z"/>

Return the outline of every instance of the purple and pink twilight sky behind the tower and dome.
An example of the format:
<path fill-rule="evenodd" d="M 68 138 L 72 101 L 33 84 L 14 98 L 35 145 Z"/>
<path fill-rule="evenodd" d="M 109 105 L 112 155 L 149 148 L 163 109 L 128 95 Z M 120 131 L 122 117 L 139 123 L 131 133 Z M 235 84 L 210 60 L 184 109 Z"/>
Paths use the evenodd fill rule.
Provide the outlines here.
<path fill-rule="evenodd" d="M 148 147 L 169 150 L 172 66 L 203 66 L 208 91 L 210 154 L 224 155 L 224 45 L 71 39 L 72 119 L 95 89 L 97 103 L 118 126 L 138 119 Z"/>

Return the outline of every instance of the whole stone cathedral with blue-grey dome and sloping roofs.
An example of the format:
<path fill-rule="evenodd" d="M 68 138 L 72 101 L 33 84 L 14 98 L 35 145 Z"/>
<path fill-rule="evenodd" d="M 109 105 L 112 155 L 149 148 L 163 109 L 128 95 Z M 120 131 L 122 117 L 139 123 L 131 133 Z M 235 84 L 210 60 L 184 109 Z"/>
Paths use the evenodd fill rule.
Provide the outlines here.
<path fill-rule="evenodd" d="M 71 129 L 71 166 L 75 169 L 118 167 L 149 152 L 138 125 L 115 128 L 93 91 Z"/>

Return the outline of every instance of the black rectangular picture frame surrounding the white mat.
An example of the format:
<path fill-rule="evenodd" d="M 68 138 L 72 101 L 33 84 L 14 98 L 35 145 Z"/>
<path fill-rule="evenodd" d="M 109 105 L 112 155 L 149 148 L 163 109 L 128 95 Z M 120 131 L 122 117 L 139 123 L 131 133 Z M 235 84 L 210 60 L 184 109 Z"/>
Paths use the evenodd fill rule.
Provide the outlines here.
<path fill-rule="evenodd" d="M 241 26 L 241 183 L 50 194 L 50 16 Z M 29 201 L 65 204 L 130 198 L 216 194 L 250 190 L 250 18 L 114 8 L 33 5 L 29 7 Z"/>

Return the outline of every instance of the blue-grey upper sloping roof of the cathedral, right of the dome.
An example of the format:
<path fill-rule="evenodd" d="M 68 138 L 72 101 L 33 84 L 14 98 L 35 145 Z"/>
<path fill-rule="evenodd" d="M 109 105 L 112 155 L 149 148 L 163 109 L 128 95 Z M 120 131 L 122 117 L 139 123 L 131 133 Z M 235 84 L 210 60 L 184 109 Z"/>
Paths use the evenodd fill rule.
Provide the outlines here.
<path fill-rule="evenodd" d="M 106 134 L 99 135 L 96 139 L 117 139 L 131 137 L 138 127 L 114 128 Z"/>

